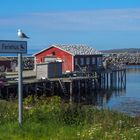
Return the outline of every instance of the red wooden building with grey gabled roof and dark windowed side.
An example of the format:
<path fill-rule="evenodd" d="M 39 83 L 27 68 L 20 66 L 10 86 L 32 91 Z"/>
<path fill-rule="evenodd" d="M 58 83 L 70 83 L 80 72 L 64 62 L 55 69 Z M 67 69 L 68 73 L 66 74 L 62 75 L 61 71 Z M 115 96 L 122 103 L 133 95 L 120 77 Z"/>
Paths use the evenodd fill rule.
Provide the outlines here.
<path fill-rule="evenodd" d="M 63 72 L 80 69 L 93 71 L 102 66 L 102 54 L 86 45 L 51 45 L 34 56 L 36 64 L 46 62 L 47 59 L 61 60 Z"/>

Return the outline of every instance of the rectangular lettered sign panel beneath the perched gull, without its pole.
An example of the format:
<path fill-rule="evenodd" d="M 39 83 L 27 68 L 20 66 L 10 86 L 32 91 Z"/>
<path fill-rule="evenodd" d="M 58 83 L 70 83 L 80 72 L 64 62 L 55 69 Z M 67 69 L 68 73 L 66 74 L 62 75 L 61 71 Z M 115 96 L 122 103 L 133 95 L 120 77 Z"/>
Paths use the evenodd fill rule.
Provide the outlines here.
<path fill-rule="evenodd" d="M 0 40 L 0 53 L 27 53 L 27 41 Z"/>

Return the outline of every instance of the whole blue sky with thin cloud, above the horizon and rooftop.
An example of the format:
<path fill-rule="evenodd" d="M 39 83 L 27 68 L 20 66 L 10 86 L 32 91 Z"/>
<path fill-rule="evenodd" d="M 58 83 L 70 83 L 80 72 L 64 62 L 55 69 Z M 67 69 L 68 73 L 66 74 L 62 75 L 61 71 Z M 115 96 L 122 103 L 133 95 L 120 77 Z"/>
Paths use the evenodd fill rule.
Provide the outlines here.
<path fill-rule="evenodd" d="M 140 48 L 140 0 L 0 0 L 0 40 L 29 49 L 87 44 L 97 50 Z"/>

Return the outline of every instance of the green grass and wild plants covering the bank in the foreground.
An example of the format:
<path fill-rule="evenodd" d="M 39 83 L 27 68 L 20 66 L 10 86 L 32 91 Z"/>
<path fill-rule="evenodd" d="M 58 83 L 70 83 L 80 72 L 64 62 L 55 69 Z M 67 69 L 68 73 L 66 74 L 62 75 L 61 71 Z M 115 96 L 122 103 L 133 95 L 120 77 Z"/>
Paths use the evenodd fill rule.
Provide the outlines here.
<path fill-rule="evenodd" d="M 130 117 L 60 97 L 24 99 L 23 125 L 17 101 L 0 101 L 0 140 L 139 140 L 140 116 Z"/>

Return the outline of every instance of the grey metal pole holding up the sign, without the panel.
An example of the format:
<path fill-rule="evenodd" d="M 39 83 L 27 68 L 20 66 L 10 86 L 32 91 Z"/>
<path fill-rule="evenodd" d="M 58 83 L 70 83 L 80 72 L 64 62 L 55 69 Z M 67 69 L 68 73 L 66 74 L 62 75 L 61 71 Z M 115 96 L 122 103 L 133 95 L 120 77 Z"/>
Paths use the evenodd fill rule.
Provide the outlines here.
<path fill-rule="evenodd" d="M 18 122 L 22 125 L 23 103 L 22 103 L 22 53 L 18 54 Z"/>

